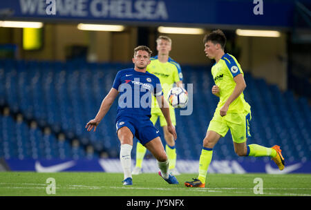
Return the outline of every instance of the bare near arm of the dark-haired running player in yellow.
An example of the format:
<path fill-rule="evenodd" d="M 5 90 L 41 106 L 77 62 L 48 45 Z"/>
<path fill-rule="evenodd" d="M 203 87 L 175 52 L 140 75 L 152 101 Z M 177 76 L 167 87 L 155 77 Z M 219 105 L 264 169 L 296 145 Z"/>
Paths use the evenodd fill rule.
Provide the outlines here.
<path fill-rule="evenodd" d="M 227 115 L 230 104 L 243 93 L 243 90 L 246 88 L 245 80 L 243 74 L 240 73 L 234 77 L 234 82 L 236 82 L 236 87 L 234 88 L 232 94 L 229 96 L 223 107 L 220 108 L 220 116 Z"/>

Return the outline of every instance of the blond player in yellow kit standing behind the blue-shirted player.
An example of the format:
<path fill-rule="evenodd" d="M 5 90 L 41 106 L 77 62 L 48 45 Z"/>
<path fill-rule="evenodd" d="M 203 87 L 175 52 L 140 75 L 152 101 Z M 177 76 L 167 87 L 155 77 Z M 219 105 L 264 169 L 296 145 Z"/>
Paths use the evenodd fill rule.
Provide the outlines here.
<path fill-rule="evenodd" d="M 147 66 L 147 71 L 156 75 L 160 79 L 164 98 L 167 99 L 167 94 L 173 87 L 173 84 L 182 87 L 182 72 L 180 65 L 169 57 L 169 52 L 171 51 L 171 39 L 167 36 L 160 36 L 156 42 L 158 55 L 151 57 L 151 63 Z M 169 105 L 169 113 L 171 114 L 171 122 L 176 126 L 175 111 L 171 105 Z M 167 130 L 167 122 L 161 113 L 161 109 L 159 108 L 156 99 L 153 98 L 150 120 L 153 124 L 156 124 L 158 118 L 160 118 L 160 126 L 163 128 L 164 139 L 167 142 L 165 151 L 169 158 L 169 173 L 172 175 L 179 175 L 179 172 L 176 169 L 175 140 L 173 139 L 173 135 Z M 144 160 L 146 151 L 146 148 L 138 142 L 136 147 L 135 169 L 132 172 L 133 175 L 142 173 L 142 161 Z"/>

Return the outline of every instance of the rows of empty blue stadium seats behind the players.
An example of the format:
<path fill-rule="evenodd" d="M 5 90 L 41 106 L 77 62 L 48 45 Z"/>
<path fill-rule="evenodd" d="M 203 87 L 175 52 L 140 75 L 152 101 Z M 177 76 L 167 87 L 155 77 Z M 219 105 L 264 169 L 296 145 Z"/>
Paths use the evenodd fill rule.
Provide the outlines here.
<path fill-rule="evenodd" d="M 130 66 L 1 60 L 0 157 L 117 158 L 120 147 L 115 134 L 117 100 L 95 133 L 86 132 L 84 126 L 96 115 L 117 70 Z M 214 82 L 210 67 L 182 66 L 185 87 L 194 86 L 194 108 L 189 116 L 180 116 L 176 110 L 178 159 L 200 157 L 202 139 L 218 102 L 211 94 Z M 245 73 L 245 81 L 245 99 L 252 106 L 252 137 L 248 143 L 279 144 L 288 160 L 311 160 L 308 99 L 295 97 L 291 90 L 282 93 L 277 86 L 255 79 L 249 73 Z M 214 151 L 214 160 L 239 160 L 229 133 Z"/>

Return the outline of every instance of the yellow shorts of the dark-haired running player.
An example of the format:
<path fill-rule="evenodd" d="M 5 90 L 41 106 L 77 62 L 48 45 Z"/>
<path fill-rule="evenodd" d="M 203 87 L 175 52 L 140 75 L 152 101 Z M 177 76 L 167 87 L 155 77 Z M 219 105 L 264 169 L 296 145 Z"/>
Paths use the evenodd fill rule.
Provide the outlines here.
<path fill-rule="evenodd" d="M 207 131 L 215 131 L 224 137 L 230 129 L 232 140 L 236 143 L 243 143 L 247 140 L 247 137 L 251 136 L 249 133 L 249 121 L 251 119 L 251 111 L 227 113 L 227 115 L 221 117 L 219 110 L 216 110 L 213 119 L 209 122 Z"/>

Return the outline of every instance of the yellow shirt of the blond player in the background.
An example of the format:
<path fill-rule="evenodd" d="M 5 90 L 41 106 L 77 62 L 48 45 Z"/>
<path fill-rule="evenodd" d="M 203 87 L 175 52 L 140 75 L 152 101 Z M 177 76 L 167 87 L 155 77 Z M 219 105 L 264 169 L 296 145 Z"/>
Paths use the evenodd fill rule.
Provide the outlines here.
<path fill-rule="evenodd" d="M 173 84 L 182 80 L 180 65 L 170 57 L 166 63 L 160 62 L 158 56 L 151 57 L 150 60 L 151 63 L 147 66 L 147 71 L 160 79 L 164 98 L 167 99 L 167 94 L 173 87 Z M 159 108 L 155 97 L 153 97 L 152 107 Z M 171 108 L 173 107 L 171 106 Z"/>

